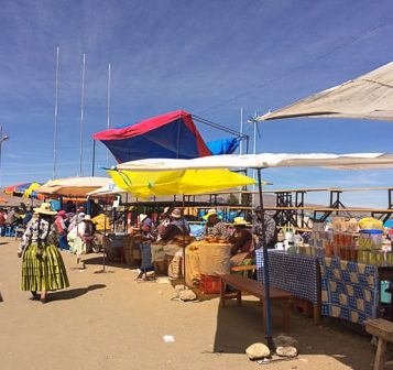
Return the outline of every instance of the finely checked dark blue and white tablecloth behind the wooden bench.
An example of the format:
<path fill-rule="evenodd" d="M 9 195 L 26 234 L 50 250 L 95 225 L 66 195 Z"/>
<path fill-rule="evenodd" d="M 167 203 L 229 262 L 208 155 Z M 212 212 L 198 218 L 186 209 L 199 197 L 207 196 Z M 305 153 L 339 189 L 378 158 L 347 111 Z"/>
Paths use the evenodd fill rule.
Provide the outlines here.
<path fill-rule="evenodd" d="M 256 250 L 258 280 L 263 282 L 263 253 Z M 316 255 L 293 254 L 269 250 L 270 284 L 291 292 L 295 297 L 313 304 L 319 302 L 318 259 Z"/>

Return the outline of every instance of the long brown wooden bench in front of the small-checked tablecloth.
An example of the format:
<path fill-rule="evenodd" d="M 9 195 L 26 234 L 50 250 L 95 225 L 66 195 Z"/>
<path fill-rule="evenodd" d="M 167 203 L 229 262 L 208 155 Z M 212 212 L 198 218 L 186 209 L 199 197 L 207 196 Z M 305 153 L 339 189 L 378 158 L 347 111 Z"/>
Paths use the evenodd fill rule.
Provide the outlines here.
<path fill-rule="evenodd" d="M 237 274 L 220 275 L 220 306 L 225 307 L 226 300 L 237 298 L 238 305 L 241 305 L 241 293 L 249 293 L 260 298 L 261 305 L 264 303 L 264 285 L 255 280 Z M 232 286 L 236 292 L 227 293 L 227 285 Z M 282 324 L 285 330 L 290 329 L 291 322 L 291 298 L 292 294 L 280 289 L 270 289 L 270 298 L 272 302 L 280 302 L 282 305 L 283 316 Z M 266 309 L 263 307 L 263 316 L 266 320 Z"/>

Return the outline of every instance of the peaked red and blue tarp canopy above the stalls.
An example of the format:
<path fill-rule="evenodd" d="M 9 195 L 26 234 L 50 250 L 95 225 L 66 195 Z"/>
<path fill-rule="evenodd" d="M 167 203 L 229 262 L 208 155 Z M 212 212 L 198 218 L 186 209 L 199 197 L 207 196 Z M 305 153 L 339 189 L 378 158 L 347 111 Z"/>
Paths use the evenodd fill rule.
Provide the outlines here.
<path fill-rule="evenodd" d="M 109 129 L 92 135 L 119 163 L 154 159 L 194 159 L 211 155 L 192 115 L 176 110 L 132 126 Z"/>

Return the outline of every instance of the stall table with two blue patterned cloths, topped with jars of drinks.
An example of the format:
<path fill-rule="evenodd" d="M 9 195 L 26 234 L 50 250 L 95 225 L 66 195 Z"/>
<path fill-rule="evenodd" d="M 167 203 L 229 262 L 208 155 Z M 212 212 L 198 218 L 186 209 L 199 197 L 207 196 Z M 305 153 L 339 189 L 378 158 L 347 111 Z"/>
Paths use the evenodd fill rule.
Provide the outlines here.
<path fill-rule="evenodd" d="M 336 218 L 330 225 L 315 224 L 309 243 L 269 252 L 272 286 L 312 302 L 315 315 L 320 302 L 323 316 L 357 324 L 379 316 L 385 280 L 393 280 L 391 243 L 379 222 Z M 256 264 L 263 282 L 261 251 Z"/>

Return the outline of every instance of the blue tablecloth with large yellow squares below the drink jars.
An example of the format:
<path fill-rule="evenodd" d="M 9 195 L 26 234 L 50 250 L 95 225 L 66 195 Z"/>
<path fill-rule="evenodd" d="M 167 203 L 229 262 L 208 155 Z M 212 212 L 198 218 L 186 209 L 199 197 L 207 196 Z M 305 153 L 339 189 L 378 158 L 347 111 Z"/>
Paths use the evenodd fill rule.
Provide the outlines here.
<path fill-rule="evenodd" d="M 378 268 L 338 258 L 319 259 L 321 314 L 363 324 L 376 317 L 379 306 Z"/>

